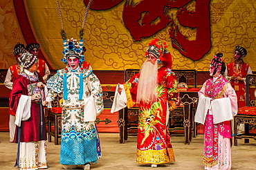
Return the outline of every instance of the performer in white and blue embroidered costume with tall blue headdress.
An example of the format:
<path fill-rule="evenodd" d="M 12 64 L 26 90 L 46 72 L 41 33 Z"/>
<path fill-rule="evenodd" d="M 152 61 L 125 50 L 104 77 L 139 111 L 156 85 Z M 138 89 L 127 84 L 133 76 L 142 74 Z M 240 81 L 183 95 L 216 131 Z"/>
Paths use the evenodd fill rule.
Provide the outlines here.
<path fill-rule="evenodd" d="M 75 169 L 80 164 L 90 169 L 90 164 L 101 158 L 94 121 L 103 111 L 102 87 L 92 70 L 82 68 L 81 41 L 64 40 L 62 62 L 68 66 L 47 81 L 47 102 L 57 94 L 63 95 L 60 164 L 64 169 Z"/>

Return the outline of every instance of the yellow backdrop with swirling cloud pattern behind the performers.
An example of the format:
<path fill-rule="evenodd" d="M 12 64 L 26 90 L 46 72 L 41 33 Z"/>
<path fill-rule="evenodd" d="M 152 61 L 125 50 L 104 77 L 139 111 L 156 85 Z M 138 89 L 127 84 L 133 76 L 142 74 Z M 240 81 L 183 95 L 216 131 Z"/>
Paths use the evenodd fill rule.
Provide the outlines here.
<path fill-rule="evenodd" d="M 82 19 L 86 6 L 82 0 L 60 1 L 64 30 L 67 38 L 79 38 L 79 31 L 82 26 Z M 202 0 L 205 2 L 204 0 Z M 30 23 L 33 26 L 39 44 L 47 56 L 48 62 L 53 68 L 60 69 L 64 64 L 62 59 L 62 38 L 60 35 L 61 25 L 57 10 L 57 3 L 53 0 L 33 1 L 26 0 L 27 12 Z M 88 1 L 85 1 L 88 2 Z M 159 1 L 151 1 L 158 3 Z M 179 0 L 184 2 L 185 0 Z M 92 1 L 92 6 L 97 6 L 97 1 Z M 250 0 L 212 0 L 209 4 L 210 14 L 210 48 L 208 53 L 194 61 L 185 57 L 181 50 L 174 48 L 170 36 L 170 29 L 178 26 L 182 35 L 188 41 L 198 38 L 200 24 L 205 21 L 197 21 L 196 28 L 182 26 L 179 18 L 179 11 L 196 12 L 199 8 L 199 1 L 189 1 L 181 8 L 169 7 L 165 15 L 169 16 L 172 22 L 167 23 L 165 28 L 154 33 L 152 36 L 134 41 L 131 30 L 123 20 L 124 8 L 127 5 L 132 7 L 141 5 L 145 1 L 120 1 L 116 6 L 104 10 L 89 10 L 84 26 L 84 46 L 86 46 L 85 60 L 91 63 L 93 70 L 125 70 L 128 68 L 140 68 L 145 60 L 147 44 L 155 38 L 166 41 L 169 44 L 168 50 L 172 54 L 173 69 L 196 69 L 207 71 L 210 59 L 216 53 L 223 53 L 224 62 L 232 62 L 232 53 L 235 46 L 243 46 L 248 50 L 244 62 L 250 64 L 253 71 L 256 70 L 254 56 L 256 55 L 256 2 Z M 151 3 L 150 6 L 154 6 Z M 196 4 L 197 3 L 197 4 Z M 171 3 L 172 6 L 172 3 Z M 12 48 L 19 41 L 24 42 L 19 24 L 15 17 L 12 0 L 3 0 L 0 3 L 0 68 L 7 69 L 15 64 L 12 57 Z M 127 9 L 127 8 L 125 8 Z M 132 15 L 131 15 L 132 17 Z M 196 17 L 194 18 L 196 20 Z M 203 30 L 201 30 L 203 31 Z M 175 35 L 174 35 L 175 36 Z M 197 37 L 196 37 L 197 36 Z M 179 41 L 177 41 L 179 43 Z M 203 46 L 203 44 L 202 44 Z M 194 47 L 200 50 L 200 46 Z"/>

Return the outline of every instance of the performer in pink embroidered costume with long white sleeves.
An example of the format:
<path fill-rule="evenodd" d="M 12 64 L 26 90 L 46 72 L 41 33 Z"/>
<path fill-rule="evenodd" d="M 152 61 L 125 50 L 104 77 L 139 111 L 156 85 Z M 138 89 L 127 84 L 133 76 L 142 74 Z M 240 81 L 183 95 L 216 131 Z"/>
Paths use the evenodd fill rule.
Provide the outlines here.
<path fill-rule="evenodd" d="M 222 53 L 214 55 L 210 64 L 211 79 L 199 91 L 195 122 L 204 125 L 203 163 L 205 169 L 231 169 L 231 124 L 237 114 L 237 95 L 220 74 L 226 66 Z"/>

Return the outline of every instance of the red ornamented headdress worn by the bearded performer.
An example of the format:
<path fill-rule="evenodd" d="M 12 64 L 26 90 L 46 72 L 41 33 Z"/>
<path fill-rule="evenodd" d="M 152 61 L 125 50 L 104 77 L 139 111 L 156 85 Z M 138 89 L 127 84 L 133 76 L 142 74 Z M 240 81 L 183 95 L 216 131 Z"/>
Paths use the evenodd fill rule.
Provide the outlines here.
<path fill-rule="evenodd" d="M 163 66 L 172 68 L 172 55 L 167 50 L 167 47 L 168 45 L 166 42 L 162 42 L 159 39 L 153 39 L 147 47 L 145 57 L 148 57 L 149 54 L 152 54 L 154 57 L 156 57 L 158 65 L 163 64 Z"/>

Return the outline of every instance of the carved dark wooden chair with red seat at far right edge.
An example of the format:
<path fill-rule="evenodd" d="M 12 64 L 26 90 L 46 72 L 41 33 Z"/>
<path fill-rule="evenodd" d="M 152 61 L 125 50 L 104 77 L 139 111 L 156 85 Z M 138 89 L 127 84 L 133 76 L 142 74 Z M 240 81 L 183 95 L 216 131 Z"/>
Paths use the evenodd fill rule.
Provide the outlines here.
<path fill-rule="evenodd" d="M 256 75 L 246 76 L 246 106 L 238 108 L 234 117 L 234 145 L 237 146 L 237 139 L 244 139 L 245 143 L 249 139 L 256 140 Z M 237 126 L 244 124 L 245 133 L 237 134 Z M 255 131 L 254 131 L 255 130 Z"/>

